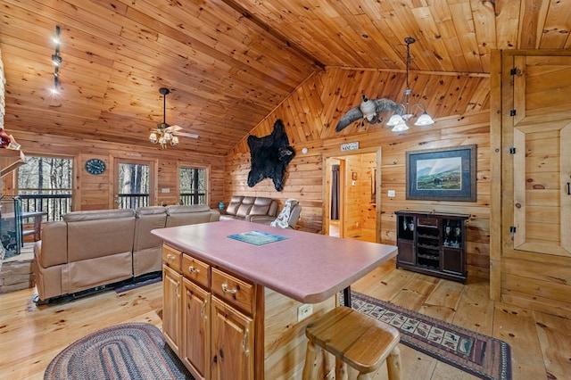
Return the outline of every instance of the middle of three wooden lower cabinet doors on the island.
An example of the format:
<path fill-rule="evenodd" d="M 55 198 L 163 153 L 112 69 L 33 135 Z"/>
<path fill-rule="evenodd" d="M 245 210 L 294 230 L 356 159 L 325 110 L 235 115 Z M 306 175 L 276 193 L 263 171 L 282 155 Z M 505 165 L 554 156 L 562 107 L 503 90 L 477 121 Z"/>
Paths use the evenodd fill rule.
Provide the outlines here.
<path fill-rule="evenodd" d="M 210 379 L 211 294 L 183 278 L 181 357 L 195 378 Z"/>

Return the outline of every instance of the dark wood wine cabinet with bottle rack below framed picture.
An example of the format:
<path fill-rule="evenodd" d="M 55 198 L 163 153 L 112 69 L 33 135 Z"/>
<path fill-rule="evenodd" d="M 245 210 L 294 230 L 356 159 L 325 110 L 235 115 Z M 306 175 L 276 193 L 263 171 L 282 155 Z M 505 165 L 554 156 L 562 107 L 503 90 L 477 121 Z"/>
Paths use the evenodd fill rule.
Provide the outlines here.
<path fill-rule="evenodd" d="M 396 211 L 397 268 L 466 282 L 467 214 Z"/>

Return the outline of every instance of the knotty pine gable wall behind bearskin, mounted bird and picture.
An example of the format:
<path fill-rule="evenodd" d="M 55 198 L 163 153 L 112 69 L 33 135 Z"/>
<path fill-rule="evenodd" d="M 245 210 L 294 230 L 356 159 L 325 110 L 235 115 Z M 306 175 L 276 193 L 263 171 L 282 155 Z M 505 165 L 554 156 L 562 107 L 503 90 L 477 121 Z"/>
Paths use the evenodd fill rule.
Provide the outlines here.
<path fill-rule="evenodd" d="M 394 211 L 468 213 L 471 215 L 468 224 L 468 276 L 489 277 L 490 79 L 430 73 L 415 73 L 413 78 L 412 98 L 424 103 L 437 120 L 432 126 L 412 126 L 398 134 L 385 127 L 384 123 L 360 127 L 356 122 L 341 132 L 335 132 L 335 125 L 344 112 L 360 103 L 362 93 L 371 98 L 401 94 L 404 87 L 401 72 L 333 68 L 309 78 L 252 130 L 254 136 L 266 136 L 275 120 L 284 121 L 290 143 L 296 150 L 296 156 L 287 169 L 284 190 L 278 193 L 269 179 L 252 188 L 247 186 L 250 155 L 244 137 L 226 160 L 225 199 L 228 201 L 232 194 L 262 195 L 283 204 L 288 198 L 296 198 L 303 208 L 298 227 L 322 233 L 326 215 L 326 159 L 343 155 L 340 146 L 347 142 L 359 142 L 360 145 L 358 151 L 350 153 L 371 153 L 380 148 L 381 181 L 377 185 L 380 194 L 377 195 L 379 202 L 376 208 L 380 219 L 377 224 L 379 241 L 396 243 Z M 400 99 L 397 97 L 397 100 Z M 405 199 L 407 151 L 472 144 L 477 145 L 476 202 Z M 302 154 L 304 147 L 308 148 L 306 154 Z M 389 189 L 395 190 L 395 197 L 387 196 Z"/>

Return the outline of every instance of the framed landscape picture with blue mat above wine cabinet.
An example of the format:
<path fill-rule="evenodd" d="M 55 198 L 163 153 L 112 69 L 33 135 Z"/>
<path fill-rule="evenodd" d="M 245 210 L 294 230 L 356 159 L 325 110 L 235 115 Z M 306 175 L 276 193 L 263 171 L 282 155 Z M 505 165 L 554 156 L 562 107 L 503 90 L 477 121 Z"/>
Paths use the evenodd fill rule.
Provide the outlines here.
<path fill-rule="evenodd" d="M 406 199 L 476 202 L 476 145 L 406 153 Z"/>

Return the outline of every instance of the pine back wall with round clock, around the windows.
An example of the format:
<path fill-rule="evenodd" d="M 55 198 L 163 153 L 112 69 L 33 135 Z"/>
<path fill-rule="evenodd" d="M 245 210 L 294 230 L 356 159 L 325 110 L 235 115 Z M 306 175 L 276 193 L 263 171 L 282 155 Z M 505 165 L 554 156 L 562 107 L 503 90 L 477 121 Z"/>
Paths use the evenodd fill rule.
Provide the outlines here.
<path fill-rule="evenodd" d="M 16 132 L 14 132 L 16 135 Z M 218 156 L 181 152 L 176 148 L 158 149 L 149 147 L 120 145 L 101 141 L 88 141 L 68 137 L 37 136 L 17 132 L 22 151 L 33 155 L 62 155 L 74 159 L 74 189 L 72 208 L 74 211 L 103 210 L 116 208 L 113 197 L 115 184 L 115 161 L 150 161 L 154 165 L 153 195 L 159 204 L 178 202 L 178 168 L 180 165 L 196 165 L 210 169 L 210 198 L 212 208 L 218 208 L 223 199 L 224 159 Z M 90 158 L 100 158 L 107 164 L 103 175 L 94 176 L 84 169 Z M 3 178 L 2 194 L 14 194 L 13 173 Z M 163 189 L 170 189 L 163 193 Z"/>

